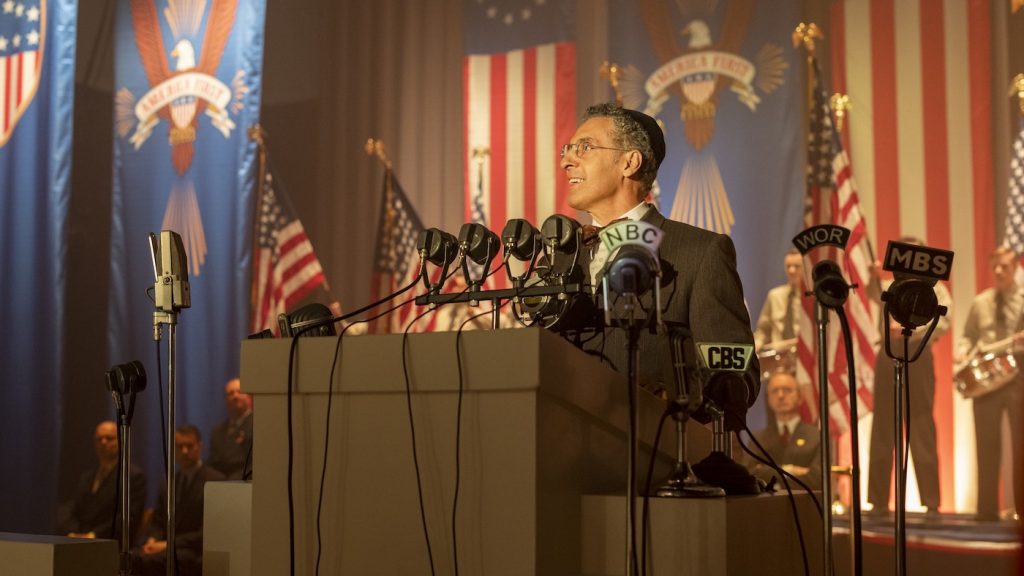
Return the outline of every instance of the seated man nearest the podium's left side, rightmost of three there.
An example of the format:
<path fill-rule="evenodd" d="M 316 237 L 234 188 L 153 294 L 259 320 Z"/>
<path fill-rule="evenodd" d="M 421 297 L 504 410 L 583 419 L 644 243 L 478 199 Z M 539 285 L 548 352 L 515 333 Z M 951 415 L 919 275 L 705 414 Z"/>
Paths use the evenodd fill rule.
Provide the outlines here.
<path fill-rule="evenodd" d="M 227 418 L 210 433 L 210 467 L 228 480 L 242 480 L 252 469 L 253 397 L 242 392 L 242 381 L 228 380 L 224 385 Z"/>

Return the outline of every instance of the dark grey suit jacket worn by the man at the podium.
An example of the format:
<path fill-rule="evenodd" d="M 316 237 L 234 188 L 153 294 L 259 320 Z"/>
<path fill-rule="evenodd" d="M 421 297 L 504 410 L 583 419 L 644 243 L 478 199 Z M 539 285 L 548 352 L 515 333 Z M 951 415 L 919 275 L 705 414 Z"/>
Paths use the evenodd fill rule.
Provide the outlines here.
<path fill-rule="evenodd" d="M 743 289 L 736 273 L 736 250 L 725 235 L 670 220 L 651 207 L 644 221 L 662 229 L 662 310 L 668 326 L 682 327 L 693 342 L 753 344 L 751 319 L 743 303 Z M 586 262 L 584 263 L 586 270 Z M 598 301 L 600 297 L 598 295 Z M 653 290 L 642 297 L 648 311 L 654 308 Z M 628 336 L 617 328 L 605 328 L 593 337 L 582 337 L 582 347 L 601 356 L 615 370 L 628 372 Z M 644 330 L 640 335 L 639 375 L 648 389 L 675 390 L 669 337 Z M 687 364 L 695 366 L 692 351 Z M 760 390 L 760 369 L 756 359 L 745 380 L 745 404 L 754 403 Z M 733 426 L 730 426 L 732 428 Z"/>

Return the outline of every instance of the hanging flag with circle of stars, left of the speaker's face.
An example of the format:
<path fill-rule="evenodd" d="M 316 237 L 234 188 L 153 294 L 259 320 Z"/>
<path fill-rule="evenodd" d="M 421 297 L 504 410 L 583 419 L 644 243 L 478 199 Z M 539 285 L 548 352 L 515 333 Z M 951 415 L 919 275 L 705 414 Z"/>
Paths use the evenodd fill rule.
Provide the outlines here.
<path fill-rule="evenodd" d="M 466 221 L 500 234 L 509 218 L 573 213 L 558 149 L 578 120 L 574 5 L 466 0 Z"/>

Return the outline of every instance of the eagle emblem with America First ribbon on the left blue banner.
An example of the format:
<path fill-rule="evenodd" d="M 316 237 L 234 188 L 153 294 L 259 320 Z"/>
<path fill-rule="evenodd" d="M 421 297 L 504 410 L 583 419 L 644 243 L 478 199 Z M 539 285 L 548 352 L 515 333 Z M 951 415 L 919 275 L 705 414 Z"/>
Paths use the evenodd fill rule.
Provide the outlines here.
<path fill-rule="evenodd" d="M 196 186 L 187 173 L 201 119 L 205 116 L 213 129 L 229 138 L 236 128 L 231 113 L 242 110 L 248 91 L 242 70 L 230 86 L 215 76 L 234 25 L 238 0 L 167 0 L 163 15 L 171 31 L 169 43 L 164 42 L 156 0 L 132 0 L 130 8 L 150 88 L 138 98 L 128 88 L 118 90 L 118 135 L 138 151 L 161 122 L 167 123 L 168 152 L 178 179 L 171 187 L 162 228 L 181 236 L 191 273 L 199 275 L 206 260 L 206 235 Z M 197 43 L 204 16 L 206 31 Z"/>

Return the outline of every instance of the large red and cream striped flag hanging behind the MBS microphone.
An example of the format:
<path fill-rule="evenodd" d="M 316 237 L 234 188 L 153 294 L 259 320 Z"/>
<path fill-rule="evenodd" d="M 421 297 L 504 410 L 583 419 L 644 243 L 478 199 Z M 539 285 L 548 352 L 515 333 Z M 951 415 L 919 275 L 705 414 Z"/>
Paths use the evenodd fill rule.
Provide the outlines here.
<path fill-rule="evenodd" d="M 853 107 L 843 138 L 874 246 L 913 236 L 956 253 L 953 330 L 932 345 L 943 510 L 971 509 L 976 492 L 973 413 L 953 390 L 951 343 L 988 286 L 1000 230 L 992 209 L 991 6 L 833 2 L 830 66 L 822 59 L 833 90 Z M 914 490 L 911 480 L 908 501 Z"/>

